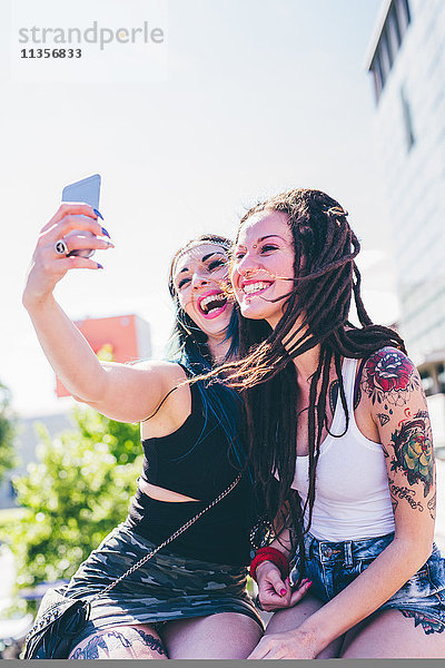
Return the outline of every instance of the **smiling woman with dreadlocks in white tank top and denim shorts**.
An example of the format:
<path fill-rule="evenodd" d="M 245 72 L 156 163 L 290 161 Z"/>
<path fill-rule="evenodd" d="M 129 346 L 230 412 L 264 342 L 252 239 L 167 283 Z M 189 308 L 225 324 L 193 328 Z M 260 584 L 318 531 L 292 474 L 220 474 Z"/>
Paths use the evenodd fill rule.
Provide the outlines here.
<path fill-rule="evenodd" d="M 263 608 L 281 609 L 253 659 L 445 656 L 427 405 L 402 338 L 365 311 L 358 252 L 347 213 L 319 190 L 284 193 L 240 222 L 244 356 L 226 380 L 244 391 L 269 518 L 287 504 L 294 524 L 251 564 Z"/>

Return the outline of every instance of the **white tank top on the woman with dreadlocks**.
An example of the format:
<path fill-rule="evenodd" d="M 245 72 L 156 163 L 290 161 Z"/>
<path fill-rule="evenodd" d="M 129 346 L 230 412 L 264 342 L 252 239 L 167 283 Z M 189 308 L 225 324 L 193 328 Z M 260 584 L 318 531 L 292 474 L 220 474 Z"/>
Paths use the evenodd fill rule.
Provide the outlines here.
<path fill-rule="evenodd" d="M 357 360 L 345 357 L 342 375 L 349 426 L 336 439 L 328 434 L 320 445 L 310 533 L 318 540 L 374 538 L 394 531 L 385 455 L 379 443 L 359 431 L 354 416 Z M 342 434 L 346 415 L 338 394 L 330 432 Z M 309 488 L 309 456 L 298 456 L 293 488 L 303 502 Z M 305 525 L 308 512 L 306 510 Z"/>

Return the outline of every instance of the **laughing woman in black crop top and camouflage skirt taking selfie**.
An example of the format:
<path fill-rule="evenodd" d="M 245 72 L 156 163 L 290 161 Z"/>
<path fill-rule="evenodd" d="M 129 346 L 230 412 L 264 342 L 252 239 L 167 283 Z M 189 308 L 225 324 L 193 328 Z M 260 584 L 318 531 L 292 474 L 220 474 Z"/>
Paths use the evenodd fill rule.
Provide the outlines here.
<path fill-rule="evenodd" d="M 82 230 L 93 237 L 76 234 Z M 69 271 L 100 268 L 72 250 L 107 249 L 108 239 L 91 207 L 62 204 L 41 230 L 23 293 L 41 346 L 71 394 L 113 420 L 141 423 L 144 470 L 129 515 L 68 587 L 73 598 L 99 593 L 70 658 L 246 658 L 263 633 L 246 593 L 246 474 L 171 544 L 101 593 L 230 490 L 245 464 L 237 393 L 188 382 L 237 347 L 237 313 L 226 294 L 230 242 L 205 235 L 178 250 L 169 277 L 171 361 L 126 365 L 100 362 L 52 294 Z"/>

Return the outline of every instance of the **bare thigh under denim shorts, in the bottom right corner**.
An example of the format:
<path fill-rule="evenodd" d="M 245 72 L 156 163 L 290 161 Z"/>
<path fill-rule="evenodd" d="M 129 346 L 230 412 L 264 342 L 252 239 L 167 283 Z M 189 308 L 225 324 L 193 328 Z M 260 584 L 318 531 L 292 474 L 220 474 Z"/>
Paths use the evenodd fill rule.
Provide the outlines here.
<path fill-rule="evenodd" d="M 445 631 L 426 635 L 399 610 L 373 615 L 346 633 L 345 659 L 434 659 L 445 657 Z"/>

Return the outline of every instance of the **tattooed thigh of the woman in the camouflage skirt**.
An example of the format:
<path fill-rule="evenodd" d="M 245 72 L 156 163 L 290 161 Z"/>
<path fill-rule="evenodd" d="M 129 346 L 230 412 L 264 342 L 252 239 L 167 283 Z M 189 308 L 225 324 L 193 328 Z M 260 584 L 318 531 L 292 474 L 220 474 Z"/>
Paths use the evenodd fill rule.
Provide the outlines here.
<path fill-rule="evenodd" d="M 158 633 L 147 625 L 110 627 L 89 636 L 69 659 L 167 659 Z"/>

